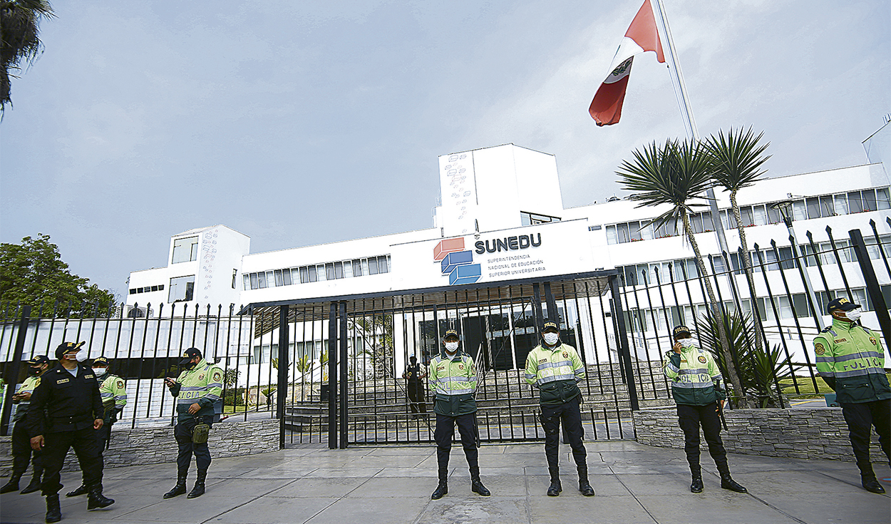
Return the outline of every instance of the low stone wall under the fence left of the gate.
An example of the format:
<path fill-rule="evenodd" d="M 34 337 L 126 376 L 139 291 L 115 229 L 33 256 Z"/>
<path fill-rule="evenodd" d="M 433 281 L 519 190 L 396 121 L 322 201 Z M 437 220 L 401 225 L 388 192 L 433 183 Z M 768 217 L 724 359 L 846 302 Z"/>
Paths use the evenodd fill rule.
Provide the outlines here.
<path fill-rule="evenodd" d="M 124 427 L 120 427 L 124 426 Z M 120 427 L 120 428 L 119 428 Z M 214 458 L 278 451 L 279 421 L 262 419 L 252 421 L 217 422 L 208 438 L 210 454 Z M 176 440 L 172 427 L 136 428 L 115 424 L 111 430 L 111 445 L 103 453 L 105 467 L 135 464 L 175 463 Z M 70 451 L 62 471 L 78 470 L 78 461 Z M 12 470 L 12 446 L 10 437 L 0 437 L 0 476 L 8 476 Z"/>

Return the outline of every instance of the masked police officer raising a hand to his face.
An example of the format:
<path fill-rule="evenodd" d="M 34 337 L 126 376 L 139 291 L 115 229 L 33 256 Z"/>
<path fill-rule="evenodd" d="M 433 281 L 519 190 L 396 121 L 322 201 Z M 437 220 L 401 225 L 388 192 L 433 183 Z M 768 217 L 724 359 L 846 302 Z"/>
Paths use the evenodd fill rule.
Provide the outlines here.
<path fill-rule="evenodd" d="M 712 455 L 721 473 L 721 487 L 748 493 L 745 487 L 731 478 L 727 451 L 721 441 L 719 413 L 727 396 L 721 387 L 721 371 L 715 364 L 715 358 L 708 351 L 697 348 L 687 326 L 676 326 L 672 335 L 674 346 L 666 352 L 662 372 L 672 381 L 672 397 L 683 430 L 683 451 L 687 454 L 693 479 L 690 491 L 702 493 L 703 488 L 702 469 L 699 466 L 699 426 L 702 426 L 708 454 Z"/>

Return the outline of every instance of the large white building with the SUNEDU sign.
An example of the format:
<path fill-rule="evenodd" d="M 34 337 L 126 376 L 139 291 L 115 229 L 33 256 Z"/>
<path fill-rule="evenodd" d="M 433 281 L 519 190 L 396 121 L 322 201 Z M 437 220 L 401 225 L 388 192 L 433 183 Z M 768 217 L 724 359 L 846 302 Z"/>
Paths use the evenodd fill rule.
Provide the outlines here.
<path fill-rule="evenodd" d="M 867 151 L 873 154 L 887 151 L 881 144 L 891 135 L 888 130 L 889 127 L 883 127 L 864 143 Z M 558 275 L 593 274 L 613 268 L 619 268 L 626 283 L 641 287 L 655 284 L 657 277 L 658 282 L 665 283 L 671 282 L 672 277 L 683 280 L 684 272 L 696 275 L 693 253 L 683 235 L 670 227 L 654 229 L 647 225 L 665 209 L 636 208 L 634 202 L 625 200 L 564 209 L 556 160 L 551 154 L 513 144 L 462 151 L 439 157 L 438 176 L 441 201 L 434 209 L 433 226 L 429 229 L 264 253 L 249 253 L 249 238 L 225 225 L 177 234 L 171 238 L 167 266 L 130 275 L 127 305 L 144 306 L 151 302 L 149 314 L 156 315 L 163 303 L 160 315 L 165 316 L 171 311 L 173 315 L 183 315 L 184 311 L 186 315 L 194 315 L 196 305 L 203 315 L 205 307 L 210 305 L 209 315 L 216 315 L 219 305 L 226 314 L 228 307 L 238 311 L 238 307 L 249 304 L 322 302 L 446 289 L 470 283 L 496 285 L 515 280 L 546 280 Z M 740 243 L 732 212 L 728 212 L 729 197 L 719 193 L 717 198 L 727 242 L 736 250 Z M 768 297 L 769 285 L 770 294 L 776 296 L 775 300 L 759 299 L 765 325 L 771 324 L 766 331 L 774 341 L 779 340 L 780 331 L 787 339 L 800 339 L 801 344 L 789 348 L 789 352 L 801 357 L 805 356 L 807 342 L 817 331 L 817 320 L 827 323 L 829 317 L 813 318 L 801 279 L 790 277 L 784 282 L 784 272 L 773 271 L 780 266 L 789 267 L 788 263 L 776 263 L 771 240 L 777 241 L 781 260 L 788 258 L 790 244 L 779 212 L 770 204 L 787 200 L 793 201 L 798 241 L 808 244 L 805 232 L 813 233 L 817 250 L 827 250 L 821 255 L 822 265 L 834 265 L 837 259 L 829 251 L 830 239 L 826 232 L 830 226 L 839 249 L 838 260 L 846 271 L 847 282 L 844 282 L 838 271 L 821 272 L 815 259 L 808 259 L 807 271 L 821 302 L 821 313 L 828 300 L 825 291 L 828 289 L 834 294 L 846 291 L 846 286 L 854 298 L 869 309 L 862 277 L 850 250 L 846 249 L 846 239 L 849 230 L 860 229 L 870 242 L 871 221 L 879 236 L 891 234 L 887 222 L 891 214 L 887 170 L 881 163 L 870 163 L 777 176 L 738 193 L 753 261 L 758 264 L 759 258 L 754 252 L 757 244 L 768 269 L 764 272 L 766 280 L 760 271 L 756 274 L 756 292 L 759 297 Z M 691 223 L 702 253 L 720 255 L 708 215 L 694 215 Z M 808 254 L 813 253 L 809 245 L 804 249 Z M 880 256 L 874 246 L 871 255 Z M 733 269 L 739 269 L 736 253 L 731 254 L 731 259 Z M 715 269 L 719 273 L 724 271 L 722 258 L 715 258 Z M 891 302 L 888 286 L 891 280 L 888 274 L 877 273 Z M 736 278 L 738 289 L 748 290 L 744 275 L 738 274 Z M 732 306 L 734 297 L 729 278 L 716 280 L 723 301 Z M 633 352 L 638 358 L 654 358 L 658 338 L 665 340 L 669 324 L 692 324 L 694 313 L 704 312 L 705 306 L 696 306 L 695 312 L 689 306 L 705 302 L 701 292 L 696 289 L 686 292 L 689 300 L 678 299 L 681 307 L 677 307 L 666 288 L 668 296 L 660 297 L 655 311 L 636 291 L 634 297 L 625 297 L 623 308 L 631 323 L 629 330 L 636 340 Z M 743 310 L 751 311 L 747 296 L 748 292 L 744 292 L 738 299 Z M 172 307 L 174 305 L 176 307 Z M 609 312 L 601 311 L 600 307 L 568 308 L 571 309 L 566 312 L 570 323 L 582 324 L 579 318 L 609 316 Z M 866 323 L 878 325 L 874 315 L 867 313 L 864 318 Z M 585 351 L 591 351 L 598 343 L 595 339 L 607 335 L 595 334 L 587 320 L 584 324 L 580 334 Z M 305 329 L 309 328 L 305 326 Z M 307 356 L 318 358 L 326 338 L 323 321 L 317 326 L 313 324 L 312 330 L 312 335 L 294 333 L 296 338 L 291 340 L 314 340 L 313 349 L 307 347 Z M 397 337 L 410 337 L 411 333 L 409 330 Z M 268 362 L 274 355 L 276 339 L 269 332 L 263 337 L 265 341 L 254 340 L 252 351 L 245 348 L 248 355 L 241 349 L 238 355 L 248 363 Z M 399 343 L 396 340 L 397 346 Z M 310 346 L 306 342 L 299 344 Z M 241 345 L 247 347 L 249 343 L 242 341 Z M 511 355 L 508 364 L 523 364 L 519 355 L 513 352 Z M 658 358 L 658 353 L 655 355 Z M 404 357 L 396 356 L 397 365 L 402 364 Z M 593 353 L 588 357 L 598 358 Z M 257 373 L 270 373 L 268 364 L 258 367 Z"/>

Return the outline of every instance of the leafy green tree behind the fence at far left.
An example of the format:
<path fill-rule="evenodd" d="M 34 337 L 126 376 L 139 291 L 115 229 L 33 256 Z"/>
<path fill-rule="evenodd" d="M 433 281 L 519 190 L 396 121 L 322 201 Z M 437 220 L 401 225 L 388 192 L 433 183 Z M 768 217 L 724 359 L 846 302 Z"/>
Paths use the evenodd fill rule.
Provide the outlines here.
<path fill-rule="evenodd" d="M 35 314 L 43 302 L 45 316 L 53 308 L 56 315 L 107 316 L 116 301 L 113 292 L 71 274 L 48 234 L 0 244 L 0 302 L 29 305 Z"/>

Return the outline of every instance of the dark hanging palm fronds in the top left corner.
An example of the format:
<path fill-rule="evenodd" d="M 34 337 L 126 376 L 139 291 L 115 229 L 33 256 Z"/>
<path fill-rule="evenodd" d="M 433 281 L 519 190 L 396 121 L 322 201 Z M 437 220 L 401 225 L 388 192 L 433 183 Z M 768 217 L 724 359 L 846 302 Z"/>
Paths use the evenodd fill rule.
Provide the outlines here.
<path fill-rule="evenodd" d="M 10 98 L 10 78 L 18 78 L 11 70 L 21 70 L 20 64 L 34 63 L 43 52 L 40 42 L 40 19 L 55 17 L 53 7 L 46 0 L 0 1 L 0 114 Z"/>

